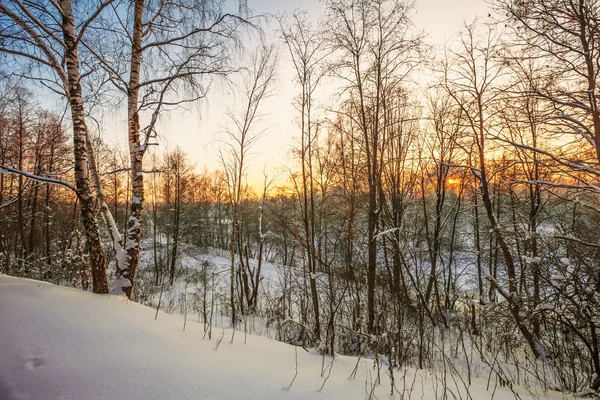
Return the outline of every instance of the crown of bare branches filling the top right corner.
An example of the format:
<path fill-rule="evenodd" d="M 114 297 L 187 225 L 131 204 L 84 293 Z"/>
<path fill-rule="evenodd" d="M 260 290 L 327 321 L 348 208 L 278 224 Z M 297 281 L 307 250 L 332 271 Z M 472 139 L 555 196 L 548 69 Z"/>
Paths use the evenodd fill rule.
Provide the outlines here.
<path fill-rule="evenodd" d="M 516 54 L 522 52 L 538 60 L 528 77 L 529 91 L 553 105 L 560 133 L 581 149 L 576 159 L 564 152 L 550 154 L 566 166 L 598 175 L 600 5 L 591 0 L 503 0 L 496 7 L 507 15 L 507 25 L 512 27 L 516 50 L 512 57 L 519 62 L 524 57 Z"/>

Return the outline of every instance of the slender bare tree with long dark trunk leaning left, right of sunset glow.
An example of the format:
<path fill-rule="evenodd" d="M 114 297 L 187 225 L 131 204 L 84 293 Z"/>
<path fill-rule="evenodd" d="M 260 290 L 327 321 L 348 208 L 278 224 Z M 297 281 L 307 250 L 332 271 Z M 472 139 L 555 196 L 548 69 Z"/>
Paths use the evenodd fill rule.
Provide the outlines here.
<path fill-rule="evenodd" d="M 494 238 L 500 246 L 508 288 L 501 284 L 493 272 L 488 274 L 487 278 L 490 285 L 507 301 L 512 318 L 532 354 L 537 358 L 543 356 L 544 350 L 522 310 L 518 264 L 505 229 L 500 225 L 491 190 L 491 182 L 495 175 L 502 172 L 502 169 L 490 169 L 488 158 L 493 152 L 492 138 L 497 136 L 499 129 L 495 126 L 493 110 L 503 93 L 499 88 L 499 81 L 506 73 L 506 65 L 499 57 L 501 42 L 497 32 L 489 26 L 486 30 L 479 36 L 475 24 L 465 26 L 465 33 L 460 36 L 460 50 L 454 53 L 454 58 L 446 64 L 444 87 L 462 111 L 466 119 L 466 132 L 474 144 L 472 148 L 462 146 L 472 156 L 473 162 L 468 168 L 478 183 L 477 195 L 481 197 Z"/>

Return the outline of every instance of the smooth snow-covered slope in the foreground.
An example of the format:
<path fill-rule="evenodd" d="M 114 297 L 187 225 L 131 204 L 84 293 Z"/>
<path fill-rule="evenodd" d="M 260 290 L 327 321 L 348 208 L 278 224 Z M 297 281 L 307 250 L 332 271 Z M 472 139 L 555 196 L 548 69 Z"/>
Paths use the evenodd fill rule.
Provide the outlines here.
<path fill-rule="evenodd" d="M 182 331 L 181 317 L 154 316 L 120 297 L 0 275 L 0 400 L 392 398 L 385 367 L 375 386 L 373 360 L 336 356 L 329 374 L 331 358 L 302 348 L 253 335 L 244 343 L 243 332 L 231 343 L 222 328 L 203 339 L 201 324 Z M 397 399 L 514 398 L 449 375 L 394 375 Z"/>

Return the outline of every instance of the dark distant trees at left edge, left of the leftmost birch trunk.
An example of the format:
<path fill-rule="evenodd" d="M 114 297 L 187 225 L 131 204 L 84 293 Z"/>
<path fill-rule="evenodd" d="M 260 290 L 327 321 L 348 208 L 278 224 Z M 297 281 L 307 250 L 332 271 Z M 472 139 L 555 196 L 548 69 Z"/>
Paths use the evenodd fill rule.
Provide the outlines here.
<path fill-rule="evenodd" d="M 73 192 L 52 184 L 67 173 L 72 160 L 64 126 L 18 86 L 2 99 L 0 109 L 1 268 L 57 282 L 73 273 L 70 281 L 80 271 L 67 255 L 75 238 L 62 228 L 74 225 Z M 19 174 L 23 170 L 37 178 Z"/>

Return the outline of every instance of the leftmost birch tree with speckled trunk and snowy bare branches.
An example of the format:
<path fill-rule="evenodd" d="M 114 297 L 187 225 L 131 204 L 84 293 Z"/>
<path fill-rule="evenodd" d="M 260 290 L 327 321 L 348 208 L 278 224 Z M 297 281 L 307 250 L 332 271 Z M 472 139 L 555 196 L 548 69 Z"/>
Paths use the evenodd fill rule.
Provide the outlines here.
<path fill-rule="evenodd" d="M 88 127 L 80 45 L 90 25 L 113 3 L 52 1 L 45 6 L 0 1 L 0 52 L 15 66 L 31 65 L 32 75 L 66 97 L 71 113 L 75 190 L 92 270 L 92 290 L 107 293 L 106 260 L 96 222 L 87 163 Z M 29 69 L 29 68 L 28 68 Z M 30 70 L 31 70 L 30 69 Z"/>

